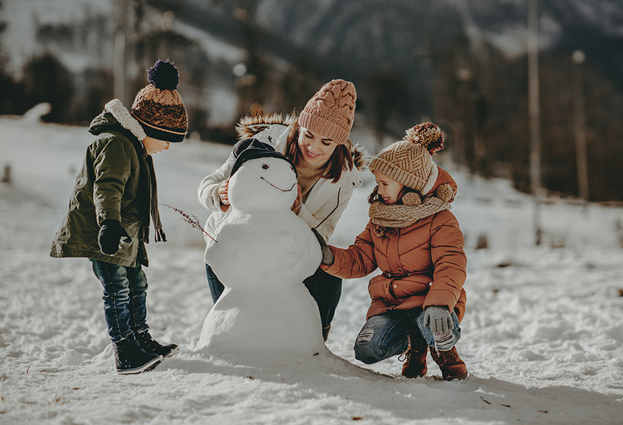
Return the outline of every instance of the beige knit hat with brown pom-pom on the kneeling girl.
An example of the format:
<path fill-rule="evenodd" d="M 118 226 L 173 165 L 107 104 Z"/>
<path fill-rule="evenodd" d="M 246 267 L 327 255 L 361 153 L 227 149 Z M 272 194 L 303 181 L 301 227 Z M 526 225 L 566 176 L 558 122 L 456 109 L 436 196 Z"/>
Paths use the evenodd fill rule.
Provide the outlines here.
<path fill-rule="evenodd" d="M 425 195 L 433 188 L 438 175 L 431 155 L 441 149 L 441 129 L 432 122 L 424 122 L 408 129 L 403 140 L 382 150 L 368 168 Z"/>

